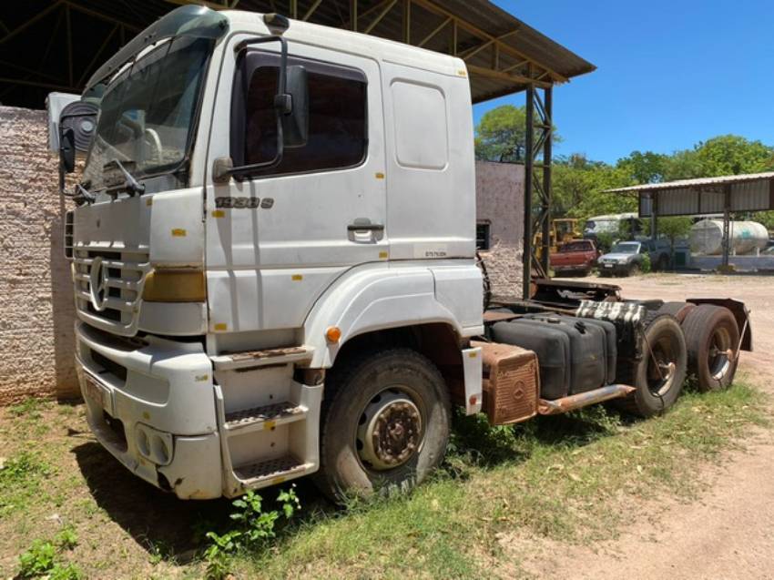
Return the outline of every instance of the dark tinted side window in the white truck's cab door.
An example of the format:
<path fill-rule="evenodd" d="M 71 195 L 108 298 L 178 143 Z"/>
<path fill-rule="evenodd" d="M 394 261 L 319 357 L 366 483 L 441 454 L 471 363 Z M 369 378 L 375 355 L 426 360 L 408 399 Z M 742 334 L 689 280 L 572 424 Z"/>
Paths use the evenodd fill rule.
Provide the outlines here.
<path fill-rule="evenodd" d="M 277 93 L 279 66 L 276 59 L 262 55 L 262 64 L 250 66 L 250 55 L 243 66 L 252 70 L 244 78 L 242 92 L 235 86 L 232 118 L 241 117 L 234 131 L 241 138 L 231 141 L 234 164 L 270 161 L 277 152 L 277 120 L 274 95 Z M 255 171 L 255 176 L 277 176 L 359 165 L 368 147 L 367 84 L 360 71 L 323 63 L 292 59 L 289 64 L 306 66 L 309 76 L 309 140 L 300 148 L 285 148 L 276 168 Z M 239 85 L 239 83 L 237 83 Z M 241 115 L 234 115 L 238 109 Z M 241 125 L 241 127 L 239 127 Z M 232 135 L 233 137 L 233 135 Z"/>

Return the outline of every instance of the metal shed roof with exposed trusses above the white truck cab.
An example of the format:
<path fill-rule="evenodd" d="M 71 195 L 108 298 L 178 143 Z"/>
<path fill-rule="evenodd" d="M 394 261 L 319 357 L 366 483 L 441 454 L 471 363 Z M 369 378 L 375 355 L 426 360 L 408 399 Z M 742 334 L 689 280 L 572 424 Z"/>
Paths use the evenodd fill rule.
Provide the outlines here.
<path fill-rule="evenodd" d="M 0 102 L 80 92 L 129 38 L 175 5 L 280 12 L 463 58 L 474 102 L 552 86 L 596 66 L 486 0 L 28 0 L 0 3 Z"/>

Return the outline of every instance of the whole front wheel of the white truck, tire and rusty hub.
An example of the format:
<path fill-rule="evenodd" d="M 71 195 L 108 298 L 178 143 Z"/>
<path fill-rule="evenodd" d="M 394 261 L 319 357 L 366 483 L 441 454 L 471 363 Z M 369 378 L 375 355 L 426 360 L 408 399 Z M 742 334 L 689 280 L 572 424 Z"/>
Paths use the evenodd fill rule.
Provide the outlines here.
<path fill-rule="evenodd" d="M 331 370 L 325 389 L 315 483 L 334 502 L 408 491 L 443 461 L 451 402 L 441 373 L 422 354 L 392 349 L 353 356 Z"/>

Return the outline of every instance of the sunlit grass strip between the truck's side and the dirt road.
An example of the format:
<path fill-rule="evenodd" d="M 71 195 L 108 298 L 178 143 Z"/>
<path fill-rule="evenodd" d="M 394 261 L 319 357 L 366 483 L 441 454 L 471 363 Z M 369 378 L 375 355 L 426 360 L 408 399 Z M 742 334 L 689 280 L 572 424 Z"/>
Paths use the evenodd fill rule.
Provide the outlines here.
<path fill-rule="evenodd" d="M 432 482 L 410 497 L 308 515 L 274 550 L 238 567 L 263 577 L 486 576 L 504 532 L 609 538 L 642 500 L 697 494 L 698 464 L 765 424 L 762 402 L 739 384 L 689 393 L 646 422 L 622 422 L 602 407 L 515 428 L 458 417 L 453 453 Z"/>

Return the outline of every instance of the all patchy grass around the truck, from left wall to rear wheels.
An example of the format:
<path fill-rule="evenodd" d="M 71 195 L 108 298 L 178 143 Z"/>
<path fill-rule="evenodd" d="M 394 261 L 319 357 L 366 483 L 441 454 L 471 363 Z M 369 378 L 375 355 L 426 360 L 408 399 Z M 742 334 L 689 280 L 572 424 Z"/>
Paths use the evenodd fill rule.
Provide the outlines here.
<path fill-rule="evenodd" d="M 765 404 L 739 382 L 727 392 L 689 392 L 649 421 L 602 407 L 516 427 L 457 416 L 443 469 L 413 494 L 335 510 L 301 481 L 300 517 L 268 549 L 237 555 L 232 569 L 237 577 L 520 575 L 513 552 L 502 557 L 510 535 L 594 542 L 650 500 L 695 497 L 698 467 L 767 424 Z M 78 541 L 67 562 L 86 577 L 200 577 L 204 533 L 228 528 L 230 504 L 158 493 L 91 443 L 81 408 L 68 409 L 25 403 L 0 415 L 0 429 L 13 433 L 0 442 L 0 510 L 18 506 L 0 513 L 0 572 L 8 568 L 0 576 L 18 572 L 8 563 L 36 539 L 69 526 Z M 39 422 L 51 424 L 43 435 Z M 51 514 L 62 523 L 49 522 Z"/>

